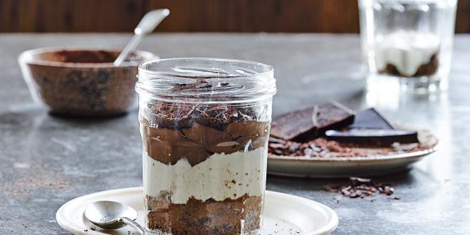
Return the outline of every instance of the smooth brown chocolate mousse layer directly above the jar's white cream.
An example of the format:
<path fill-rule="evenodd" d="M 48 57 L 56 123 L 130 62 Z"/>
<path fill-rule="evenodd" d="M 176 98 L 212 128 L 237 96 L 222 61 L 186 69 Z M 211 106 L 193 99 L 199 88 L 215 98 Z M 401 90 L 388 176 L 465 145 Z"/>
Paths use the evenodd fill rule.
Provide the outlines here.
<path fill-rule="evenodd" d="M 182 130 L 142 127 L 142 133 L 147 154 L 154 160 L 176 164 L 184 158 L 194 166 L 214 153 L 261 147 L 267 141 L 268 122 L 232 122 L 224 131 L 199 123 Z"/>

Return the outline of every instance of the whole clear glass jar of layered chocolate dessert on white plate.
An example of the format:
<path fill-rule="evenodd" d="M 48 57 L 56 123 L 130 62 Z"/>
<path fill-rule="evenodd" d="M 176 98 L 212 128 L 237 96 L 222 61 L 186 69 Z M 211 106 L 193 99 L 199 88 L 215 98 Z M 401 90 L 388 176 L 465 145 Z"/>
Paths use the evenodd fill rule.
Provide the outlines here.
<path fill-rule="evenodd" d="M 219 58 L 142 63 L 136 85 L 150 231 L 259 234 L 271 66 Z"/>

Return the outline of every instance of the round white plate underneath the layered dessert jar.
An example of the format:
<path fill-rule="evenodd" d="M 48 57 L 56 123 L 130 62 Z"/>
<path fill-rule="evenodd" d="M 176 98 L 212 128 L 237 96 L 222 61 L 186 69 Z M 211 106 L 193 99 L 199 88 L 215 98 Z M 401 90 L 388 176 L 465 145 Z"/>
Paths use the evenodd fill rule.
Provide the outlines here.
<path fill-rule="evenodd" d="M 122 202 L 137 210 L 137 222 L 142 224 L 145 216 L 142 195 L 142 187 L 88 194 L 63 204 L 56 219 L 73 234 L 137 234 L 129 226 L 117 230 L 99 229 L 84 218 L 83 211 L 95 201 Z M 265 199 L 263 234 L 330 234 L 338 226 L 338 216 L 333 209 L 310 199 L 271 191 L 266 191 Z"/>

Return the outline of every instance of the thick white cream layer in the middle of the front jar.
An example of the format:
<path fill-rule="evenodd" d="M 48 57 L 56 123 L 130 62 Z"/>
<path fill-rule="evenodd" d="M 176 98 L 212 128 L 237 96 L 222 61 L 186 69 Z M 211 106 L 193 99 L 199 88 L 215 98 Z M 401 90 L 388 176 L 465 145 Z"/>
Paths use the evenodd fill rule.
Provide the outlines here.
<path fill-rule="evenodd" d="M 171 202 L 185 204 L 190 197 L 199 200 L 237 199 L 244 194 L 261 196 L 266 184 L 266 147 L 229 155 L 214 154 L 194 165 L 186 159 L 163 164 L 144 153 L 144 192 L 159 197 L 171 192 Z"/>

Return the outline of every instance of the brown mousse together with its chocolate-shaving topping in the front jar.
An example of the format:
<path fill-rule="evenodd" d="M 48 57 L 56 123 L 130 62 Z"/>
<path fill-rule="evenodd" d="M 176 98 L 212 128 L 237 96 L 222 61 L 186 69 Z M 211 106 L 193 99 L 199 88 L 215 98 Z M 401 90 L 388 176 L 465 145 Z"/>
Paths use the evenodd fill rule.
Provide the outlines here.
<path fill-rule="evenodd" d="M 144 147 L 164 164 L 184 158 L 194 166 L 214 153 L 253 150 L 268 141 L 269 122 L 259 121 L 253 108 L 159 101 L 148 110 L 141 120 Z"/>

